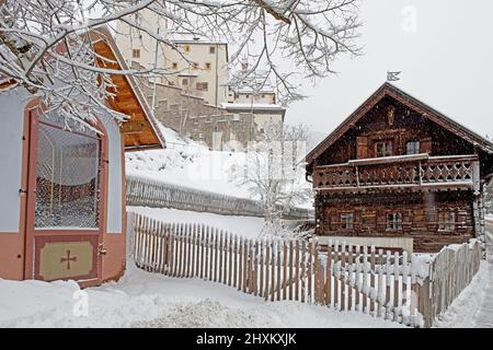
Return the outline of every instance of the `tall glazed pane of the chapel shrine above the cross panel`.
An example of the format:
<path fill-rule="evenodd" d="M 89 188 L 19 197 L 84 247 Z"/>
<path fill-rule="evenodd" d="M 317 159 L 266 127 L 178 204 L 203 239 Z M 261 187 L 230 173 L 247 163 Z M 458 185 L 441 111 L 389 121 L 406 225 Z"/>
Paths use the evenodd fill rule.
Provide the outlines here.
<path fill-rule="evenodd" d="M 39 124 L 35 228 L 98 228 L 100 142 Z"/>

